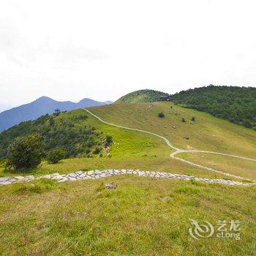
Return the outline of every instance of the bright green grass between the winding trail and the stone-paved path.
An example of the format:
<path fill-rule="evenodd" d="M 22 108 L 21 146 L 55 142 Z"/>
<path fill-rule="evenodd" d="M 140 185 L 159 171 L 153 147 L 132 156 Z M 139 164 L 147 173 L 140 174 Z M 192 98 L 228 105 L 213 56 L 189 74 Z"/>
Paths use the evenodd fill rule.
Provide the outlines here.
<path fill-rule="evenodd" d="M 103 107 L 105 108 L 105 107 Z M 50 165 L 43 161 L 42 165 L 32 170 L 22 170 L 22 175 L 34 174 L 36 176 L 47 173 L 69 173 L 76 170 L 92 170 L 105 168 L 138 168 L 141 170 L 162 170 L 170 173 L 184 173 L 192 176 L 225 178 L 215 173 L 208 172 L 197 167 L 178 162 L 176 159 L 170 159 L 170 148 L 165 142 L 151 135 L 141 132 L 127 131 L 111 127 L 98 121 L 93 116 L 86 113 L 87 118 L 76 118 L 84 115 L 85 110 L 75 110 L 68 113 L 61 113 L 61 118 L 64 122 L 77 120 L 76 127 L 91 126 L 103 135 L 110 135 L 113 138 L 113 143 L 109 148 L 108 153 L 100 157 L 99 154 L 91 154 L 91 157 L 81 157 L 73 159 L 65 159 L 57 165 Z M 4 170 L 0 165 L 0 176 L 19 175 L 20 171 Z"/>

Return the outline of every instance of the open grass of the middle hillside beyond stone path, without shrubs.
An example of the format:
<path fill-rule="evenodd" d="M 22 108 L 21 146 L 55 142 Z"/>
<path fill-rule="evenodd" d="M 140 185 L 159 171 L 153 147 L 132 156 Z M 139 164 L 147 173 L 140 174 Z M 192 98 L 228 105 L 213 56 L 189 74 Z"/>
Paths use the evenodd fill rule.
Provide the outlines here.
<path fill-rule="evenodd" d="M 181 108 L 170 102 L 117 104 L 91 108 L 91 110 L 104 120 L 114 124 L 146 129 L 163 135 L 179 148 L 196 148 L 256 158 L 256 132 L 214 118 L 206 113 Z M 157 116 L 161 111 L 165 113 L 165 118 Z M 86 115 L 87 118 L 80 118 L 83 115 Z M 191 124 L 189 120 L 192 116 L 195 116 L 195 121 Z M 182 122 L 182 117 L 187 121 Z M 94 131 L 100 136 L 112 136 L 113 145 L 108 148 L 107 152 L 104 151 L 104 148 L 102 149 L 102 157 L 100 157 L 100 154 L 91 154 L 92 158 L 67 159 L 58 165 L 48 165 L 46 162 L 42 162 L 40 167 L 30 171 L 36 175 L 54 172 L 67 173 L 78 169 L 132 167 L 142 170 L 165 170 L 193 176 L 221 177 L 208 170 L 192 167 L 178 162 L 176 159 L 170 159 L 170 148 L 159 138 L 102 124 L 86 113 L 85 110 L 62 113 L 56 120 L 62 120 L 64 124 L 75 120 L 74 127 L 77 127 L 78 131 L 80 127 L 94 127 Z M 102 143 L 102 140 L 100 140 L 100 143 Z M 177 156 L 184 157 L 182 155 Z M 83 154 L 80 154 L 80 157 L 83 157 Z M 194 159 L 191 159 L 191 157 L 194 157 Z M 255 162 L 214 155 L 200 157 L 198 153 L 186 154 L 185 158 L 244 178 L 256 178 Z M 7 174 L 1 168 L 0 175 L 6 176 Z"/>

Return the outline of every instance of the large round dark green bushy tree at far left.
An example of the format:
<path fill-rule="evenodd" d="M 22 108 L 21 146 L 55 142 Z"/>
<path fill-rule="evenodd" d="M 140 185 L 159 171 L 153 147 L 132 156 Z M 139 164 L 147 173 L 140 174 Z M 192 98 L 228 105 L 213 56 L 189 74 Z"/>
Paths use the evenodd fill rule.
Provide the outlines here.
<path fill-rule="evenodd" d="M 37 167 L 45 153 L 44 147 L 41 135 L 18 137 L 8 148 L 8 165 L 15 169 Z"/>

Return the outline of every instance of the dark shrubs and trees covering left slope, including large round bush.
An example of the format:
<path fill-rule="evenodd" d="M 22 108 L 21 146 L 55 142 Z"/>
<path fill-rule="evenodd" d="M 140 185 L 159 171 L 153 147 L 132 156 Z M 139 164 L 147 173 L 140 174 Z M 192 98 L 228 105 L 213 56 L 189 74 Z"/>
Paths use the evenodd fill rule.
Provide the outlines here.
<path fill-rule="evenodd" d="M 15 168 L 35 167 L 41 159 L 50 163 L 69 157 L 91 157 L 113 142 L 95 127 L 85 124 L 86 115 L 41 116 L 0 134 L 0 158 L 7 157 Z"/>

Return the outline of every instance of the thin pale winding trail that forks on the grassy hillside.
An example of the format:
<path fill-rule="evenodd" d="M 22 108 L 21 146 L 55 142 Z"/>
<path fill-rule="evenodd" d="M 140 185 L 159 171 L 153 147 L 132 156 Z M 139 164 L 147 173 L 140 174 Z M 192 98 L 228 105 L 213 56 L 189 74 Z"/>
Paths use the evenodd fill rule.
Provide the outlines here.
<path fill-rule="evenodd" d="M 167 138 L 161 136 L 161 135 L 158 135 L 157 133 L 154 133 L 154 132 L 148 132 L 148 131 L 145 131 L 143 129 L 135 129 L 135 128 L 129 128 L 129 127 L 124 127 L 124 126 L 121 126 L 121 125 L 117 125 L 117 124 L 111 124 L 109 123 L 108 121 L 104 121 L 102 120 L 102 118 L 99 118 L 99 116 L 96 116 L 94 113 L 91 113 L 90 110 L 86 109 L 86 108 L 83 108 L 83 110 L 86 110 L 91 116 L 94 116 L 95 118 L 97 118 L 99 121 L 101 121 L 102 123 L 104 124 L 108 124 L 108 125 L 111 125 L 113 127 L 118 127 L 118 128 L 122 128 L 122 129 L 129 129 L 129 130 L 132 130 L 132 131 L 137 131 L 137 132 L 144 132 L 144 133 L 148 133 L 150 135 L 154 135 L 158 138 L 161 138 L 162 140 L 165 140 L 165 143 L 167 144 L 167 146 L 169 146 L 170 148 L 174 149 L 175 151 L 172 152 L 170 154 L 170 157 L 173 158 L 173 159 L 176 159 L 180 162 L 185 162 L 189 165 L 193 165 L 195 167 L 199 167 L 201 169 L 205 169 L 205 170 L 210 170 L 211 172 L 214 172 L 214 173 L 219 173 L 219 174 L 222 174 L 222 175 L 225 175 L 225 176 L 229 176 L 229 177 L 233 177 L 233 178 L 240 178 L 240 179 L 244 179 L 244 180 L 247 180 L 247 181 L 250 181 L 249 178 L 243 178 L 241 176 L 236 176 L 236 175 L 233 175 L 233 174 L 230 174 L 230 173 L 225 173 L 225 172 L 222 172 L 221 170 L 215 170 L 211 167 L 206 167 L 206 166 L 203 166 L 203 165 L 198 165 L 196 164 L 195 162 L 190 162 L 186 159 L 181 159 L 179 157 L 176 157 L 176 154 L 181 154 L 181 153 L 206 153 L 206 154 L 220 154 L 222 156 L 227 156 L 227 157 L 236 157 L 236 158 L 240 158 L 240 159 L 244 159 L 244 160 L 249 160 L 249 161 L 254 161 L 256 162 L 256 159 L 252 159 L 252 158 L 248 158 L 248 157 L 240 157 L 240 156 L 236 156 L 236 155 L 233 155 L 233 154 L 225 154 L 225 153 L 220 153 L 220 152 L 214 152 L 214 151 L 204 151 L 204 150 L 185 150 L 185 149 L 181 149 L 181 148 L 176 148 L 176 146 L 173 146 L 173 144 L 170 143 L 169 140 L 167 140 Z"/>

